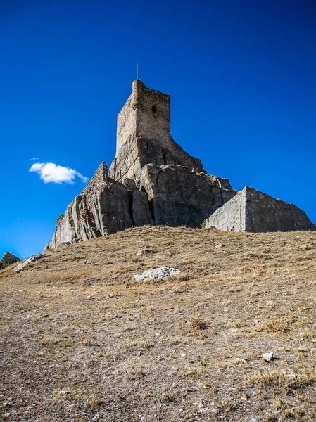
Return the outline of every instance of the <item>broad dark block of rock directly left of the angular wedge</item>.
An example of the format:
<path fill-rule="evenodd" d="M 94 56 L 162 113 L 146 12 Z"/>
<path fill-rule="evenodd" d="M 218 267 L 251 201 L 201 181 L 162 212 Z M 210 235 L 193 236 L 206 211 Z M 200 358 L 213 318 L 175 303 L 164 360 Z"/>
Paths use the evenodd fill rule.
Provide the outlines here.
<path fill-rule="evenodd" d="M 199 227 L 235 195 L 227 179 L 177 165 L 145 165 L 139 187 L 148 196 L 154 224 L 167 226 Z"/>

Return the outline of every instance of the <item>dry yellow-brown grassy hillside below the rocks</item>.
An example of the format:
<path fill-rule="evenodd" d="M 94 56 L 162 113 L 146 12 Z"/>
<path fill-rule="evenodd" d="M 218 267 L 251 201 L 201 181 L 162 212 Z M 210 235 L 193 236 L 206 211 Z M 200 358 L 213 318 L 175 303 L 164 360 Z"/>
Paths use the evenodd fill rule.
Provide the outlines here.
<path fill-rule="evenodd" d="M 0 271 L 4 420 L 315 420 L 316 233 L 146 226 L 44 255 Z"/>

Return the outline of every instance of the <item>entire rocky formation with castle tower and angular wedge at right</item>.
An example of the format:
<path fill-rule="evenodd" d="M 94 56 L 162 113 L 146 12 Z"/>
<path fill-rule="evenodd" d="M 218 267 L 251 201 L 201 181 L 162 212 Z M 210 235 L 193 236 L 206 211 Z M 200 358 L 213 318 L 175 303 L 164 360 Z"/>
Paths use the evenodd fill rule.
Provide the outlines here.
<path fill-rule="evenodd" d="M 199 227 L 208 219 L 208 227 L 236 231 L 315 227 L 294 205 L 250 189 L 236 195 L 227 179 L 206 174 L 172 139 L 170 96 L 137 80 L 118 115 L 110 171 L 102 162 L 45 249 L 144 224 Z"/>

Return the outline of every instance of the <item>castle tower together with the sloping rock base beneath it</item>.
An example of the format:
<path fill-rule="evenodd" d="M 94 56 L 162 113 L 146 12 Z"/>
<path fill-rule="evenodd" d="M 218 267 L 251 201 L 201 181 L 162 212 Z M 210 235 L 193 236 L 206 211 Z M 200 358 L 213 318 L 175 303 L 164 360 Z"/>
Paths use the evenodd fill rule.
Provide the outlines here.
<path fill-rule="evenodd" d="M 139 79 L 118 114 L 116 154 L 110 177 L 139 181 L 141 168 L 155 165 L 182 165 L 203 172 L 201 160 L 191 157 L 170 134 L 170 96 L 147 88 Z"/>

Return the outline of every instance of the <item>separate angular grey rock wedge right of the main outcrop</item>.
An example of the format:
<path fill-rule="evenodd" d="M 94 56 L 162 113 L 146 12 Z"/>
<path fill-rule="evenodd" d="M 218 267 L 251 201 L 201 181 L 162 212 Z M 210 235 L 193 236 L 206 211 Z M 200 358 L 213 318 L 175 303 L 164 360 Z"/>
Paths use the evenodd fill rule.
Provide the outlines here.
<path fill-rule="evenodd" d="M 227 231 L 315 230 L 296 205 L 246 187 L 206 220 L 206 228 Z"/>

